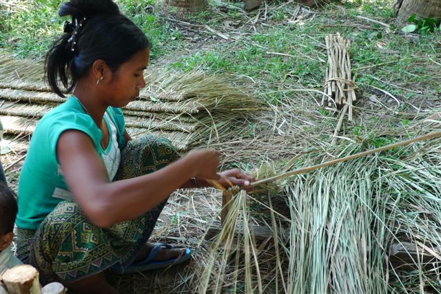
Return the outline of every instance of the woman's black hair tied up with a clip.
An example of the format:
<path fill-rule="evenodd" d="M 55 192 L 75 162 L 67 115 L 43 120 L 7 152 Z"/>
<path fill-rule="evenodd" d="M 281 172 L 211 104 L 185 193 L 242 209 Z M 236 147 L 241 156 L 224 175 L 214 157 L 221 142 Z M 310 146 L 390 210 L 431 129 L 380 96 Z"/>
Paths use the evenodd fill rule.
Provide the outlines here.
<path fill-rule="evenodd" d="M 152 46 L 112 0 L 70 0 L 59 10 L 60 17 L 68 15 L 72 23 L 65 25 L 65 34 L 45 57 L 45 78 L 61 97 L 59 81 L 66 93 L 71 92 L 94 61 L 102 59 L 115 71 L 136 52 Z"/>

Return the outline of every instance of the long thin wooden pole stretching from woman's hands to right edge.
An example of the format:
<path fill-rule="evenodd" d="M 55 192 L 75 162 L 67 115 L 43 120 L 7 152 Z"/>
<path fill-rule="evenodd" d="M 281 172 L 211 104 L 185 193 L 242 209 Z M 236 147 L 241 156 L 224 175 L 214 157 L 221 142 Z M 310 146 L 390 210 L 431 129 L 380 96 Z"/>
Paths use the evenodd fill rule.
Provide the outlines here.
<path fill-rule="evenodd" d="M 338 162 L 345 162 L 354 158 L 358 158 L 358 157 L 362 157 L 362 156 L 367 156 L 369 154 L 374 154 L 374 153 L 378 153 L 381 151 L 385 151 L 385 150 L 389 150 L 395 147 L 400 147 L 400 146 L 404 146 L 404 145 L 409 145 L 412 143 L 416 143 L 416 142 L 420 142 L 420 141 L 424 141 L 424 140 L 430 140 L 436 137 L 441 136 L 441 132 L 432 132 L 429 134 L 426 134 L 424 136 L 420 136 L 417 138 L 413 138 L 410 140 L 404 140 L 402 142 L 398 142 L 398 143 L 393 143 L 393 144 L 389 144 L 380 148 L 376 148 L 376 149 L 372 149 L 372 150 L 368 150 L 368 151 L 364 151 L 364 152 L 360 152 L 358 154 L 353 154 L 350 156 L 346 156 L 343 158 L 338 158 L 338 159 L 334 159 L 334 160 L 329 160 L 327 162 L 323 162 L 320 165 L 313 165 L 312 167 L 302 167 L 301 169 L 295 169 L 294 171 L 287 171 L 284 174 L 279 174 L 277 176 L 272 176 L 271 178 L 265 178 L 263 180 L 258 180 L 256 182 L 252 182 L 250 184 L 251 187 L 256 187 L 259 185 L 263 185 L 263 184 L 267 184 L 268 182 L 274 182 L 276 180 L 280 180 L 283 178 L 287 178 L 289 176 L 294 176 L 294 175 L 298 175 L 298 174 L 305 174 L 309 171 L 314 171 L 316 169 L 321 169 L 322 167 L 328 167 L 329 165 L 335 165 Z"/>

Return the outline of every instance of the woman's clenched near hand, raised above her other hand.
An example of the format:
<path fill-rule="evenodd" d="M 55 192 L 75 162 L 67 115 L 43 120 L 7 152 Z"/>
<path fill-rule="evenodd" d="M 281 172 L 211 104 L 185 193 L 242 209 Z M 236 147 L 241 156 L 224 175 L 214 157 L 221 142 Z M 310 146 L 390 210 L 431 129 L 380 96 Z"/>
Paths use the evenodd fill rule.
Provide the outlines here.
<path fill-rule="evenodd" d="M 205 178 L 208 180 L 217 180 L 219 165 L 219 152 L 215 149 L 196 149 L 189 151 L 185 159 L 192 162 L 194 166 L 194 174 L 197 178 Z"/>

